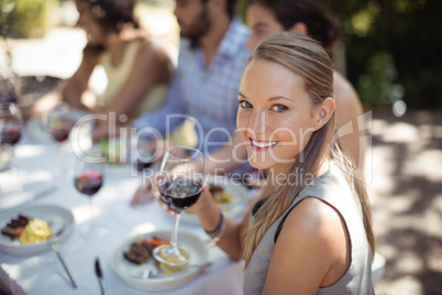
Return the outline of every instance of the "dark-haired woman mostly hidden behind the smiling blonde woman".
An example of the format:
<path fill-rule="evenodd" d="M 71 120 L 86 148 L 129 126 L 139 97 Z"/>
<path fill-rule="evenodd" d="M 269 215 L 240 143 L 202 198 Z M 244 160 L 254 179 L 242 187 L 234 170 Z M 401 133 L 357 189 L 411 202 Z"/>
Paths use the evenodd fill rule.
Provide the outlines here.
<path fill-rule="evenodd" d="M 270 35 L 291 31 L 309 35 L 331 51 L 339 37 L 339 26 L 317 0 L 248 0 L 246 12 L 251 36 L 246 46 L 253 50 Z M 343 149 L 355 165 L 355 175 L 364 176 L 366 139 L 363 125 L 363 107 L 360 98 L 340 73 L 334 70 L 334 95 L 336 103 L 336 128 Z M 360 119 L 360 120 L 361 120 Z"/>

